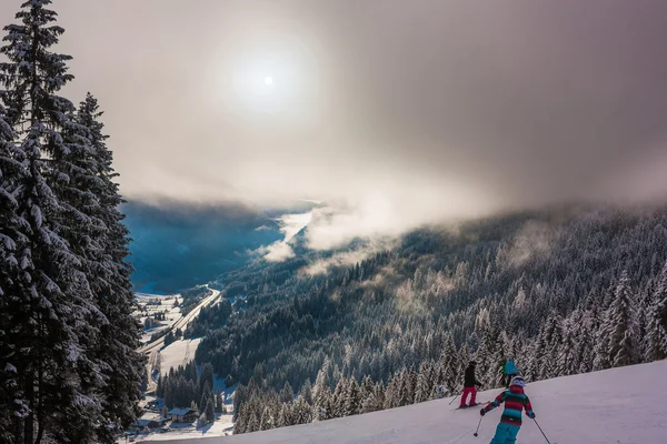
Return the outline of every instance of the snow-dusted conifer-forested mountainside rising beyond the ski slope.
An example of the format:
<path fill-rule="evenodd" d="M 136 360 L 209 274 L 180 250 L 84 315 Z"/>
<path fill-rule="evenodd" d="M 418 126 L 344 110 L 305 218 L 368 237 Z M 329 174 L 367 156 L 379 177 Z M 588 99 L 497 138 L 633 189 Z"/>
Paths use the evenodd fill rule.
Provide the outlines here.
<path fill-rule="evenodd" d="M 354 266 L 312 274 L 321 260 L 308 252 L 228 273 L 219 285 L 231 300 L 202 310 L 186 332 L 207 332 L 197 363 L 241 384 L 237 432 L 405 405 L 440 384 L 451 393 L 469 356 L 494 386 L 508 357 L 539 380 L 667 349 L 664 208 L 424 229 Z M 178 391 L 186 374 L 160 389 Z"/>

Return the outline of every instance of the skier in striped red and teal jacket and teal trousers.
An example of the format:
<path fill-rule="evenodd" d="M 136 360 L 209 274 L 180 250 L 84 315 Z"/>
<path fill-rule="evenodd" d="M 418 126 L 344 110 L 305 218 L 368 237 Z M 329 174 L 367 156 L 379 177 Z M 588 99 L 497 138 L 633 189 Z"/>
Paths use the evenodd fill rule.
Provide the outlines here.
<path fill-rule="evenodd" d="M 490 444 L 514 444 L 517 441 L 517 434 L 521 428 L 521 412 L 524 410 L 529 418 L 535 420 L 530 400 L 524 393 L 524 387 L 526 387 L 526 381 L 520 376 L 516 376 L 511 380 L 509 390 L 500 393 L 494 402 L 479 411 L 479 414 L 484 416 L 487 412 L 505 403 L 505 411 L 502 412 L 502 416 L 500 416 L 500 423 L 496 427 L 496 435 Z"/>

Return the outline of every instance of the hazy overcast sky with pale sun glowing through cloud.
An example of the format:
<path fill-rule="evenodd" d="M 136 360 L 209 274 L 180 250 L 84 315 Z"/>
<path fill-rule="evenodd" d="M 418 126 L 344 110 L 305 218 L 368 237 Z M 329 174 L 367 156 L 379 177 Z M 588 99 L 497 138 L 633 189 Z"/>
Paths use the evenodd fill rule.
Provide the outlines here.
<path fill-rule="evenodd" d="M 319 199 L 372 232 L 667 192 L 664 0 L 53 9 L 129 198 Z"/>

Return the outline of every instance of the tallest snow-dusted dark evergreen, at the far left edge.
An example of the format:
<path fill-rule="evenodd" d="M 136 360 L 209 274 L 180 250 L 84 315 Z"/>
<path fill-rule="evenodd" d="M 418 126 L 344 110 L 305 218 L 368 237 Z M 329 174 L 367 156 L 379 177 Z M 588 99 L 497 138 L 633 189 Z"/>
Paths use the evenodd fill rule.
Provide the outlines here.
<path fill-rule="evenodd" d="M 100 400 L 103 362 L 90 350 L 99 336 L 96 321 L 103 321 L 103 315 L 94 305 L 80 258 L 61 236 L 80 221 L 64 218 L 67 204 L 52 189 L 69 179 L 62 165 L 71 150 L 67 132 L 74 108 L 57 95 L 72 79 L 67 73 L 71 58 L 49 50 L 63 32 L 52 24 L 56 12 L 47 9 L 49 3 L 23 3 L 16 16 L 20 23 L 4 28 L 8 43 L 0 49 L 9 60 L 0 63 L 7 118 L 21 139 L 26 169 L 14 194 L 18 215 L 27 223 L 19 253 L 22 272 L 12 290 L 23 313 L 12 321 L 19 337 L 14 356 L 20 390 L 14 395 L 17 405 L 28 410 L 14 416 L 16 442 L 88 441 L 107 425 Z"/>

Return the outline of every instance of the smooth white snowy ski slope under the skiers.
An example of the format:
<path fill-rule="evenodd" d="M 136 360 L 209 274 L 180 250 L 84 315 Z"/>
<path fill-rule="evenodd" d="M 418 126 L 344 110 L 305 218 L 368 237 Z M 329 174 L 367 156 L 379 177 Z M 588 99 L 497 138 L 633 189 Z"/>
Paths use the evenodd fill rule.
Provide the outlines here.
<path fill-rule="evenodd" d="M 479 394 L 491 400 L 499 391 Z M 537 421 L 551 444 L 667 443 L 667 361 L 529 384 Z M 486 415 L 479 437 L 472 432 L 479 410 L 455 411 L 437 400 L 366 415 L 218 438 L 175 440 L 172 444 L 486 444 L 500 410 Z M 167 437 L 167 436 L 165 436 Z M 517 444 L 546 443 L 526 418 Z"/>

